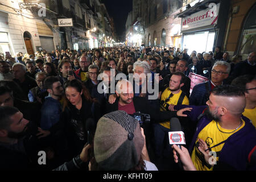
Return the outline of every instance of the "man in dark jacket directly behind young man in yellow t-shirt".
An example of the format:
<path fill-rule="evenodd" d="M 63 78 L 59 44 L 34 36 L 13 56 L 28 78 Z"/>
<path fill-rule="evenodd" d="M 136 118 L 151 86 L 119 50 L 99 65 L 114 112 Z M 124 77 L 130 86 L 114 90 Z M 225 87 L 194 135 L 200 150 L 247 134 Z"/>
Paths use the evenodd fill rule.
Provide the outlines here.
<path fill-rule="evenodd" d="M 185 75 L 185 73 L 187 72 L 187 69 L 188 69 L 188 65 L 187 65 L 186 60 L 177 61 L 175 72 L 184 73 L 184 75 Z M 163 81 L 159 82 L 159 86 L 160 86 L 159 88 L 161 91 L 163 91 L 164 89 L 166 89 L 168 87 L 171 76 L 172 76 L 172 74 L 166 75 L 164 77 Z M 189 94 L 190 94 L 190 85 L 191 85 L 190 78 L 185 77 L 185 82 L 184 82 L 184 85 L 181 86 L 181 90 L 186 93 L 186 96 L 188 98 L 189 98 Z"/>

